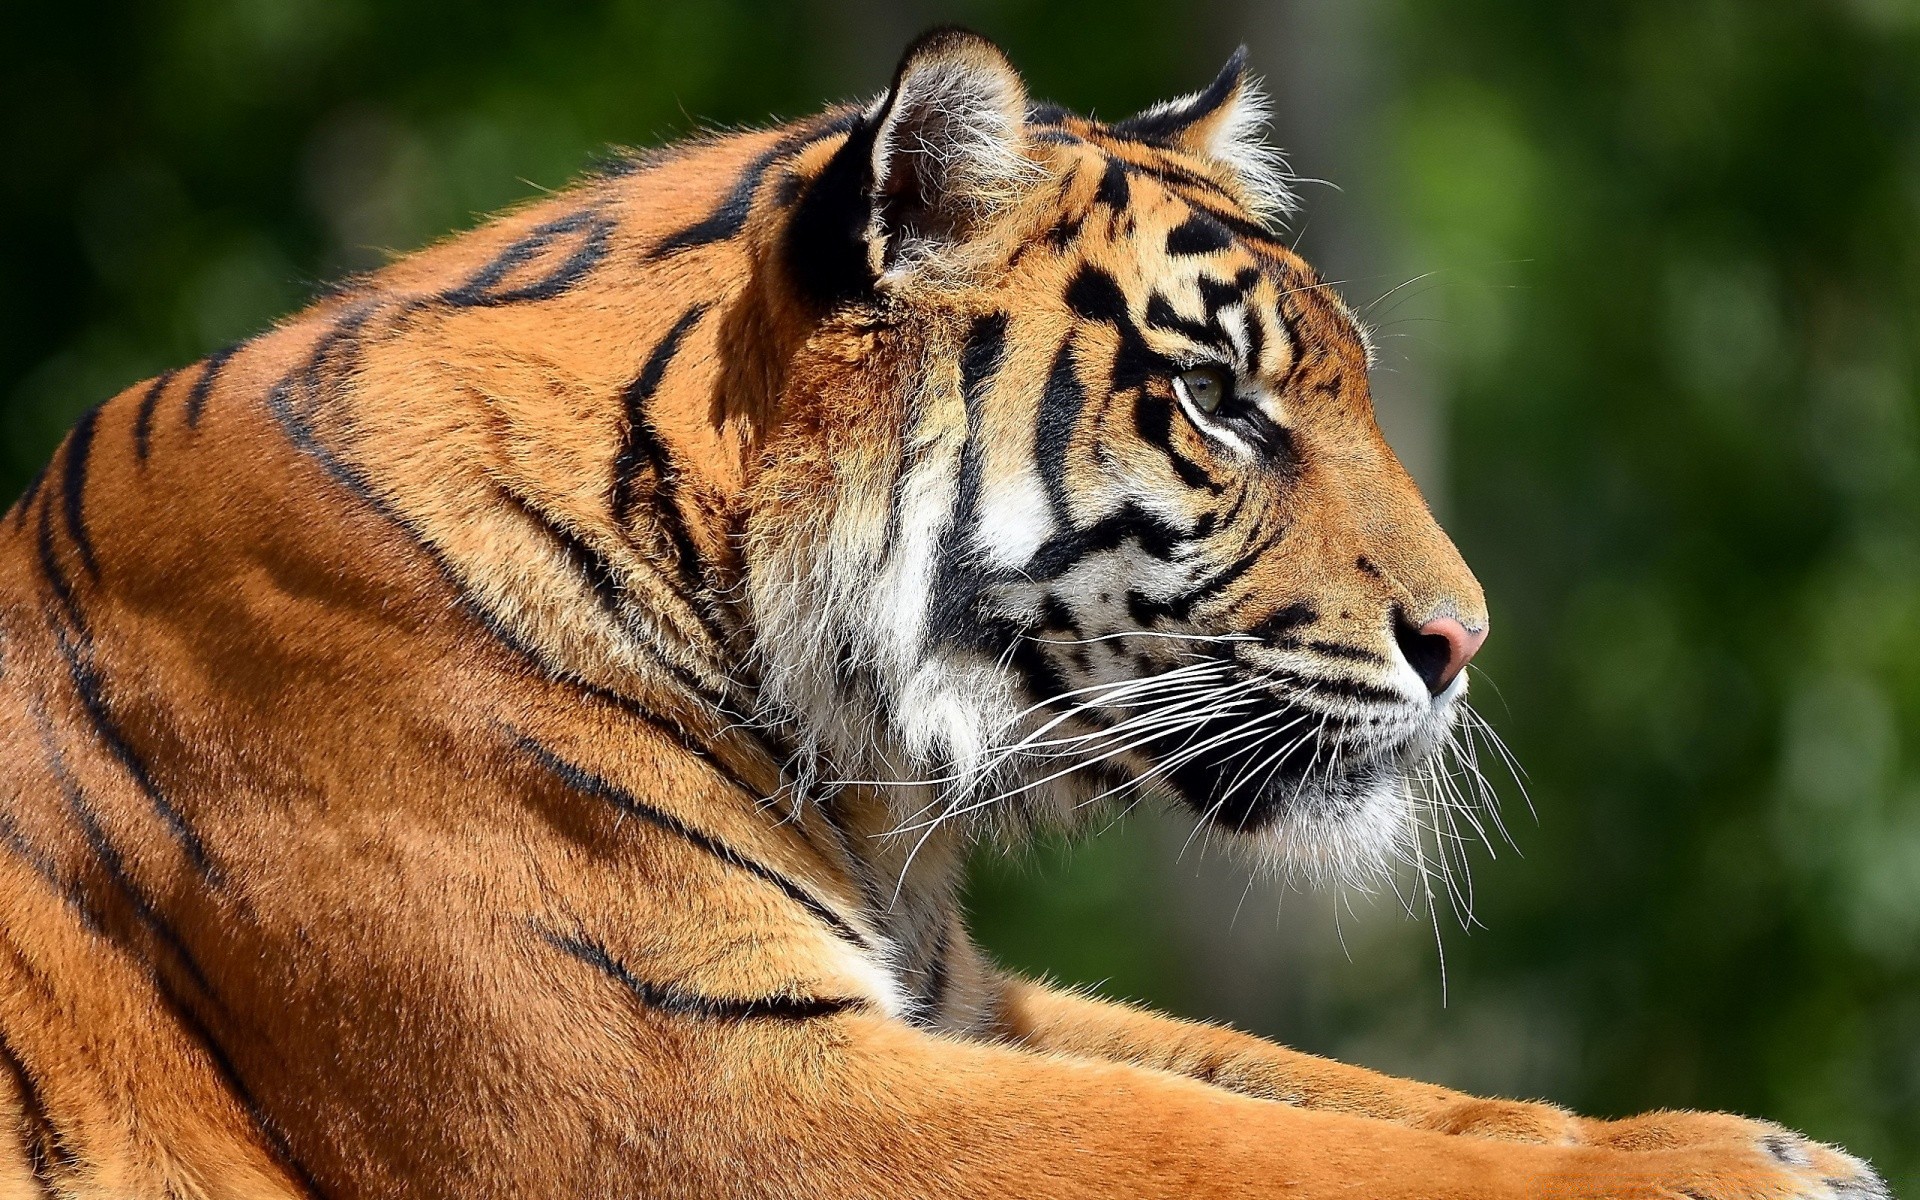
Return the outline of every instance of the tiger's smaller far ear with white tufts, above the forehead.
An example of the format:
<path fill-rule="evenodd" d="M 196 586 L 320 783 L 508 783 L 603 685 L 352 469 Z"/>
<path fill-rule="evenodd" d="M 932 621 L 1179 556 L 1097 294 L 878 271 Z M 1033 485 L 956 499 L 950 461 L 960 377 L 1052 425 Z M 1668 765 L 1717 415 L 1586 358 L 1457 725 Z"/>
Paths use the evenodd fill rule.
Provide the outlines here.
<path fill-rule="evenodd" d="M 1210 159 L 1233 173 L 1256 213 L 1284 217 L 1300 205 L 1286 156 L 1265 138 L 1267 119 L 1267 94 L 1240 46 L 1213 83 L 1127 117 L 1114 132 Z"/>

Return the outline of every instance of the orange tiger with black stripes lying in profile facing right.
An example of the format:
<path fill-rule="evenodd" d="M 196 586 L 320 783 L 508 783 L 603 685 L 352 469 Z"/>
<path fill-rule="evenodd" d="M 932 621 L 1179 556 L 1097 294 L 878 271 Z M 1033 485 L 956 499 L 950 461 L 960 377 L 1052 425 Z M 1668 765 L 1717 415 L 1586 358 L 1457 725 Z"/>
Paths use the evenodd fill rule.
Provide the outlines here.
<path fill-rule="evenodd" d="M 0 1192 L 1885 1196 L 970 941 L 1140 795 L 1365 877 L 1459 720 L 1263 125 L 939 29 L 83 415 L 0 526 Z"/>

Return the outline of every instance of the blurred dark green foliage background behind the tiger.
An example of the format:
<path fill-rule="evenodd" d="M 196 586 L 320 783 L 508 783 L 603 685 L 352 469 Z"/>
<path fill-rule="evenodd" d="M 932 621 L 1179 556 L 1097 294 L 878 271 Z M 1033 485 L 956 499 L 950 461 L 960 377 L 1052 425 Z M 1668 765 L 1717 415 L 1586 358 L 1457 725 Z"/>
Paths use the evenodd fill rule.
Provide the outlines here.
<path fill-rule="evenodd" d="M 983 862 L 1008 962 L 1920 1194 L 1920 0 L 179 0 L 0 17 L 0 497 L 92 401 L 609 142 L 883 84 L 920 27 L 1121 115 L 1236 42 L 1530 774 L 1471 931 L 1142 816 Z"/>

